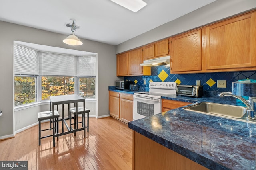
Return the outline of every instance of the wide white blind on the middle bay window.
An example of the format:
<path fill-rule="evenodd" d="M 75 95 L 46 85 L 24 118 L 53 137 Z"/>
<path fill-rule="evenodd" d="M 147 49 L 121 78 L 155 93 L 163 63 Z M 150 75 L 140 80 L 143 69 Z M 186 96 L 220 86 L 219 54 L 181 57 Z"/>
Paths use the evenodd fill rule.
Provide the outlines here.
<path fill-rule="evenodd" d="M 76 76 L 76 57 L 39 52 L 40 76 Z"/>

